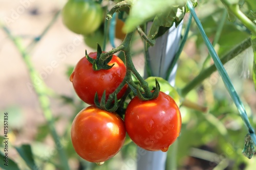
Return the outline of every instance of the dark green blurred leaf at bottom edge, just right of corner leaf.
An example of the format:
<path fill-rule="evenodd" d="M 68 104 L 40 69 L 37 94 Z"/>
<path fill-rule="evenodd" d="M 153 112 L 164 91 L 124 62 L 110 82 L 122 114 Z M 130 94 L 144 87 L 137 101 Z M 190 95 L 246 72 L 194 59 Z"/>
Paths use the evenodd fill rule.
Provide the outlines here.
<path fill-rule="evenodd" d="M 19 155 L 24 159 L 26 164 L 30 167 L 30 169 L 34 169 L 37 167 L 33 158 L 31 146 L 29 144 L 23 144 L 20 147 L 15 147 Z"/>

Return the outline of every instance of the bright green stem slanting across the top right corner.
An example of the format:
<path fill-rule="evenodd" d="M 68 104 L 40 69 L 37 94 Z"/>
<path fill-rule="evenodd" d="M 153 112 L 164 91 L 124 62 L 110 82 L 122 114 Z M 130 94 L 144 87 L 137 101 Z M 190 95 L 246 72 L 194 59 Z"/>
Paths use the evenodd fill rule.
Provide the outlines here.
<path fill-rule="evenodd" d="M 228 0 L 221 0 L 223 4 L 231 11 L 245 27 L 253 34 L 256 34 L 256 25 L 239 9 L 238 4 L 231 4 Z"/>

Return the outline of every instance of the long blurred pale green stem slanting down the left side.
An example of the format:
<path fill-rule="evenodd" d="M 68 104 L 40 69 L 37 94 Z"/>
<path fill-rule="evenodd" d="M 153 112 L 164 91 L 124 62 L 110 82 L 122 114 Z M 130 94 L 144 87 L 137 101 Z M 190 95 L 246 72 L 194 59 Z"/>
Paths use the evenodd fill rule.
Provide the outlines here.
<path fill-rule="evenodd" d="M 50 109 L 50 100 L 47 96 L 47 87 L 46 87 L 44 81 L 42 81 L 40 79 L 40 75 L 35 70 L 35 68 L 30 60 L 31 57 L 28 55 L 25 47 L 22 46 L 22 43 L 20 42 L 19 38 L 14 37 L 6 27 L 3 27 L 3 29 L 6 32 L 6 34 L 9 36 L 9 38 L 14 42 L 15 46 L 17 47 L 18 51 L 22 55 L 26 65 L 27 65 L 27 68 L 29 70 L 29 76 L 30 76 L 31 82 L 34 85 L 33 87 L 37 94 L 40 107 L 42 109 L 42 112 L 44 113 L 44 116 L 47 120 L 47 124 L 48 124 L 50 132 L 51 132 L 51 135 L 56 144 L 56 149 L 59 154 L 62 169 L 69 170 L 70 168 L 69 168 L 69 164 L 68 164 L 68 159 L 66 157 L 66 153 L 63 150 L 63 145 L 61 145 L 60 139 L 55 130 L 54 119 L 53 119 L 52 112 Z M 38 84 L 38 80 L 40 80 L 39 84 Z"/>

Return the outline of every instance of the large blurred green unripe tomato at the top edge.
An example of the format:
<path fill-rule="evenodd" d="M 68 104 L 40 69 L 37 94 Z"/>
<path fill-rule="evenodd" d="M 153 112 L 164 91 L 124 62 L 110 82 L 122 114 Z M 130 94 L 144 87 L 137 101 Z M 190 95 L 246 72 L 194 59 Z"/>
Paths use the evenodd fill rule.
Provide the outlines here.
<path fill-rule="evenodd" d="M 93 1 L 69 0 L 61 14 L 63 23 L 77 34 L 93 33 L 103 21 L 103 10 Z"/>

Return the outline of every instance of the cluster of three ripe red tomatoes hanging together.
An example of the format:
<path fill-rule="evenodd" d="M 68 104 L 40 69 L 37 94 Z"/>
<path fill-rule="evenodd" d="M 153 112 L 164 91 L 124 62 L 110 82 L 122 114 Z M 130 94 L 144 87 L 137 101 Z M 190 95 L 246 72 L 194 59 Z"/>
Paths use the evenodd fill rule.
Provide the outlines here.
<path fill-rule="evenodd" d="M 97 52 L 88 56 L 96 59 Z M 139 147 L 148 151 L 166 152 L 181 129 L 180 110 L 170 95 L 160 91 L 156 99 L 147 101 L 141 101 L 135 96 L 127 105 L 123 117 L 102 110 L 94 103 L 96 92 L 102 103 L 102 95 L 105 94 L 105 100 L 108 100 L 109 95 L 124 81 L 124 63 L 113 55 L 108 65 L 113 64 L 110 69 L 95 71 L 88 58 L 83 57 L 70 76 L 79 98 L 92 105 L 81 110 L 73 120 L 71 139 L 75 151 L 90 162 L 104 162 L 120 151 L 127 132 Z M 151 79 L 146 81 L 151 82 Z M 164 85 L 164 81 L 161 82 Z M 122 98 L 126 89 L 127 85 L 117 94 L 117 99 Z"/>

